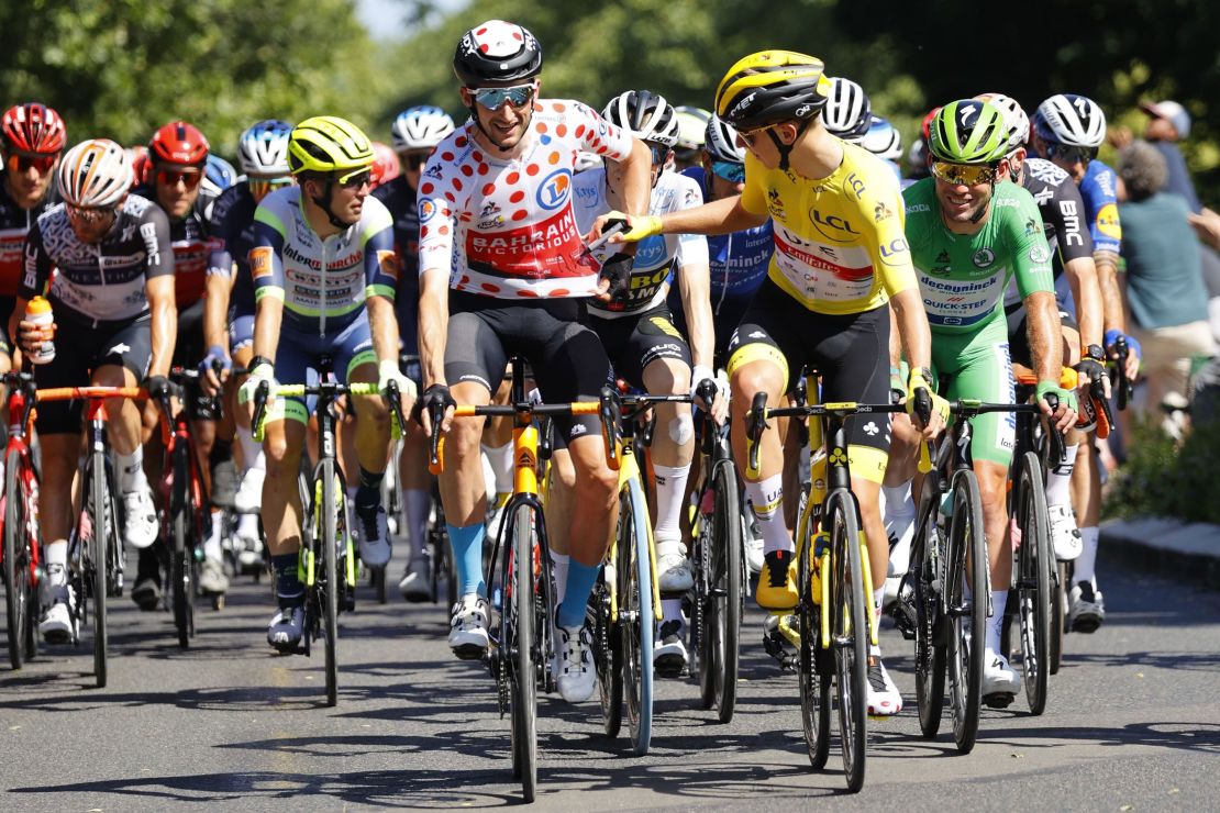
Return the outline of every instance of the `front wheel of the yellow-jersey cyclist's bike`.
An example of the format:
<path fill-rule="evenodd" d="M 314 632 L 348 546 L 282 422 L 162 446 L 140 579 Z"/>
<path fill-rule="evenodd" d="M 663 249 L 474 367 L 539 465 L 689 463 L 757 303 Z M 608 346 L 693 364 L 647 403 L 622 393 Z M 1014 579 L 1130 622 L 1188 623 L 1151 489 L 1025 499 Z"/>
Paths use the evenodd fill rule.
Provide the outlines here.
<path fill-rule="evenodd" d="M 827 503 L 834 570 L 831 583 L 831 635 L 834 636 L 839 744 L 843 748 L 847 789 L 855 793 L 864 787 L 869 745 L 865 689 L 869 670 L 869 616 L 864 607 L 860 523 L 849 491 L 831 494 Z"/>

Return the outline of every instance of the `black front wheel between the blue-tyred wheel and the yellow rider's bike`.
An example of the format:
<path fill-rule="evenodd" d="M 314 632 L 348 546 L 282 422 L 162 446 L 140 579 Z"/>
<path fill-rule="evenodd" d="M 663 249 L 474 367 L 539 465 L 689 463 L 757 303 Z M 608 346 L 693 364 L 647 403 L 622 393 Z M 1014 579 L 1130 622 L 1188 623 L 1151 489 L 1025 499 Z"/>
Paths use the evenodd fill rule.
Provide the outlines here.
<path fill-rule="evenodd" d="M 715 492 L 715 534 L 711 549 L 711 619 L 712 686 L 716 718 L 721 723 L 733 719 L 737 705 L 737 673 L 742 630 L 743 540 L 741 503 L 737 495 L 737 474 L 725 460 L 712 469 Z"/>

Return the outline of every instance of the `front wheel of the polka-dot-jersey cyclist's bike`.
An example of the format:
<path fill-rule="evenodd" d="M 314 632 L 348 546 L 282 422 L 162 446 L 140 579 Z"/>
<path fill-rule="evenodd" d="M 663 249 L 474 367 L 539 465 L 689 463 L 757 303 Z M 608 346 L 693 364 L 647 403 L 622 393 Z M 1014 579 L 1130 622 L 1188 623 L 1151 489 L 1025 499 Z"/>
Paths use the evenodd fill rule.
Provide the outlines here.
<path fill-rule="evenodd" d="M 512 512 L 512 606 L 516 619 L 512 646 L 512 750 L 521 796 L 533 802 L 538 789 L 538 675 L 534 662 L 534 572 L 533 508 L 517 506 Z"/>

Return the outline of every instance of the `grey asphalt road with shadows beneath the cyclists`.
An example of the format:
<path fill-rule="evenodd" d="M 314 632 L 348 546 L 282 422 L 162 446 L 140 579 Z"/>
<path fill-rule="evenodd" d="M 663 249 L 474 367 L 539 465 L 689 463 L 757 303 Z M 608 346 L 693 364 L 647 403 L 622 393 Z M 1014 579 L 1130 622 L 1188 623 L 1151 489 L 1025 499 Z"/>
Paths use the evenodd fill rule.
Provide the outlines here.
<path fill-rule="evenodd" d="M 401 563 L 392 568 L 396 577 Z M 1068 639 L 1046 714 L 1030 717 L 1024 697 L 985 711 L 969 756 L 948 734 L 920 736 L 911 645 L 887 628 L 883 651 L 908 708 L 870 723 L 865 787 L 844 795 L 836 751 L 826 772 L 809 768 L 795 678 L 762 652 L 755 613 L 728 725 L 698 709 L 692 684 L 659 681 L 651 752 L 636 758 L 625 739 L 601 734 L 595 702 L 545 697 L 536 807 L 1214 809 L 1220 594 L 1104 562 L 1102 586 L 1107 623 Z M 223 611 L 201 608 L 189 651 L 168 614 L 117 601 L 109 687 L 92 687 L 88 641 L 0 672 L 0 809 L 516 804 L 508 720 L 487 672 L 449 656 L 447 613 L 378 606 L 367 588 L 361 597 L 343 619 L 336 708 L 321 703 L 320 656 L 267 647 L 265 583 L 243 579 Z"/>

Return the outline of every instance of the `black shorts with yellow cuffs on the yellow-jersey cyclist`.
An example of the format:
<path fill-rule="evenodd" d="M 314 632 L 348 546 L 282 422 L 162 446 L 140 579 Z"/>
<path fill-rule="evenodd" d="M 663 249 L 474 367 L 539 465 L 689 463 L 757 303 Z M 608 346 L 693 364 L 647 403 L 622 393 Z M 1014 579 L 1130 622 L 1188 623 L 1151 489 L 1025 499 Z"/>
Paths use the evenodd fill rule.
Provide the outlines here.
<path fill-rule="evenodd" d="M 788 391 L 802 368 L 809 367 L 821 373 L 822 402 L 889 403 L 888 306 L 843 316 L 815 313 L 769 279 L 759 288 L 730 341 L 730 358 L 741 360 L 734 361 L 734 366 L 755 355 L 749 351 L 750 345 L 782 353 L 787 362 Z M 769 355 L 764 350 L 756 357 L 773 357 L 773 352 Z M 855 467 L 853 460 L 853 474 L 880 481 L 878 472 L 871 469 L 880 466 L 880 474 L 884 474 L 889 416 L 855 416 L 844 425 L 849 445 L 882 452 L 861 461 L 861 467 Z"/>

